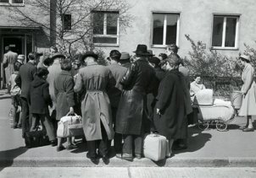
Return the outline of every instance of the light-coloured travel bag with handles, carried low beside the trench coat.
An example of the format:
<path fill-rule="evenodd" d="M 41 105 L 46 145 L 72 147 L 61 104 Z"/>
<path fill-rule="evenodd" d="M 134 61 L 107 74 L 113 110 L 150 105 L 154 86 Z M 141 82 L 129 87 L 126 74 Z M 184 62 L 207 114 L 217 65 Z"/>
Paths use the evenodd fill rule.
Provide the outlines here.
<path fill-rule="evenodd" d="M 58 121 L 57 137 L 70 138 L 84 135 L 81 116 L 64 116 Z"/>

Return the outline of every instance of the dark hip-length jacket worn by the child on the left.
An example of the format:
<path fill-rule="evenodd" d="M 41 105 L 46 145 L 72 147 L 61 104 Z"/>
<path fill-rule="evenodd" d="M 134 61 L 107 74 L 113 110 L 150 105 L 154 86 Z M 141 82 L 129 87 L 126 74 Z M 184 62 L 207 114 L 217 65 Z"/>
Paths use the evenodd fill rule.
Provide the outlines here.
<path fill-rule="evenodd" d="M 36 78 L 31 83 L 29 102 L 32 114 L 47 114 L 48 105 L 53 105 L 49 94 L 49 84 L 42 78 Z"/>

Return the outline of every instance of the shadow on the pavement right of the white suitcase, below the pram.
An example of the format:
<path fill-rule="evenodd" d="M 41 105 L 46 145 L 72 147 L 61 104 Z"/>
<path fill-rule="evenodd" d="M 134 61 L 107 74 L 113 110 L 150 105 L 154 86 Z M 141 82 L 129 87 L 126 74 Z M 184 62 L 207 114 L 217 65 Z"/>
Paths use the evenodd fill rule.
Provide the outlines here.
<path fill-rule="evenodd" d="M 209 142 L 212 135 L 204 133 L 198 126 L 188 128 L 187 148 L 183 150 L 174 150 L 174 154 L 181 154 L 185 152 L 195 152 L 203 148 L 205 143 Z"/>

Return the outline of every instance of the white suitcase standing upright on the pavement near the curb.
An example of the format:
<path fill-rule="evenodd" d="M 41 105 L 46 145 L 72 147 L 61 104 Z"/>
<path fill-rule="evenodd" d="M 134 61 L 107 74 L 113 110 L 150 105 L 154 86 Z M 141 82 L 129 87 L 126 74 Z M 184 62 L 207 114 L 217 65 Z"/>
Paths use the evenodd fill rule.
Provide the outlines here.
<path fill-rule="evenodd" d="M 144 138 L 143 152 L 147 159 L 165 159 L 166 156 L 170 156 L 168 140 L 159 134 L 147 134 Z"/>

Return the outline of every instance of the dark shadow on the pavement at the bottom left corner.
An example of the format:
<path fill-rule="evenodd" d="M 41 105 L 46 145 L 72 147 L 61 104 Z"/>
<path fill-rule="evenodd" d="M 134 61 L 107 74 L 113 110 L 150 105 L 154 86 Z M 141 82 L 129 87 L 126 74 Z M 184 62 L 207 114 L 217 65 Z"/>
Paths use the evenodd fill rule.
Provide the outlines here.
<path fill-rule="evenodd" d="M 24 154 L 28 148 L 19 147 L 14 149 L 9 149 L 0 152 L 0 171 L 5 167 L 11 166 L 14 163 L 14 159 L 19 155 Z"/>

